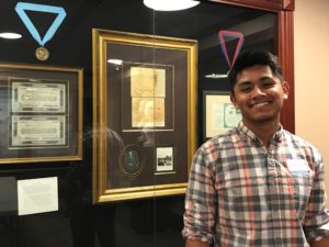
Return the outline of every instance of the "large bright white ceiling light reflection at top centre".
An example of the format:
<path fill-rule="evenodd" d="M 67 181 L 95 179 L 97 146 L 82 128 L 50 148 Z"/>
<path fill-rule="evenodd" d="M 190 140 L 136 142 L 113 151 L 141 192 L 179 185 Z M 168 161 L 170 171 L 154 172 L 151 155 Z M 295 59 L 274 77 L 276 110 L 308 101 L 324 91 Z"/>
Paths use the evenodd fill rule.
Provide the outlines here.
<path fill-rule="evenodd" d="M 158 11 L 185 10 L 198 3 L 194 0 L 144 0 L 145 5 Z"/>

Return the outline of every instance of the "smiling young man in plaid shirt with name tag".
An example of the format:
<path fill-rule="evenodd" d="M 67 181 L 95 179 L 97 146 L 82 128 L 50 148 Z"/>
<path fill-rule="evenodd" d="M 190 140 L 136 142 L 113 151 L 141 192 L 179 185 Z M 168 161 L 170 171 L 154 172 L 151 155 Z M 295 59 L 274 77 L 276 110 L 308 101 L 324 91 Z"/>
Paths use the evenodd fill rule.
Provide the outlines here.
<path fill-rule="evenodd" d="M 247 50 L 228 77 L 242 121 L 193 158 L 185 247 L 329 247 L 322 158 L 280 124 L 290 88 L 274 56 Z"/>

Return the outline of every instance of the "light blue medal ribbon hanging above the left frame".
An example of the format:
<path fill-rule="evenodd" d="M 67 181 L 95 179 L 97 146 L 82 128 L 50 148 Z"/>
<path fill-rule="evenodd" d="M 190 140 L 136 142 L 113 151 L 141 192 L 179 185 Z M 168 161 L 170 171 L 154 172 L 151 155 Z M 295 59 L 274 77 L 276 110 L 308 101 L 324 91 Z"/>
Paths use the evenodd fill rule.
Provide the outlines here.
<path fill-rule="evenodd" d="M 47 12 L 55 13 L 57 18 L 54 20 L 53 24 L 46 32 L 44 38 L 41 38 L 39 33 L 35 29 L 34 24 L 31 22 L 30 18 L 25 13 L 26 10 L 36 11 L 36 12 Z M 66 16 L 66 12 L 61 7 L 54 5 L 44 5 L 44 4 L 34 4 L 27 2 L 18 2 L 15 11 L 20 15 L 21 20 L 25 24 L 26 29 L 30 31 L 34 40 L 41 45 L 44 46 L 56 33 L 58 26 L 61 24 Z"/>

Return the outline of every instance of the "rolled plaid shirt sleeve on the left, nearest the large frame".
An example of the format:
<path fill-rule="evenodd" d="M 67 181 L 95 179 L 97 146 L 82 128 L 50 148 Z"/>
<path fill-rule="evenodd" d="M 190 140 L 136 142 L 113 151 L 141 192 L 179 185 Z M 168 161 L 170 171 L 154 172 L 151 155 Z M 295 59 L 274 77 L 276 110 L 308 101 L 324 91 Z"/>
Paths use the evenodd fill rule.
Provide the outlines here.
<path fill-rule="evenodd" d="M 216 215 L 215 176 L 206 148 L 202 146 L 192 160 L 185 194 L 185 238 L 212 243 Z"/>

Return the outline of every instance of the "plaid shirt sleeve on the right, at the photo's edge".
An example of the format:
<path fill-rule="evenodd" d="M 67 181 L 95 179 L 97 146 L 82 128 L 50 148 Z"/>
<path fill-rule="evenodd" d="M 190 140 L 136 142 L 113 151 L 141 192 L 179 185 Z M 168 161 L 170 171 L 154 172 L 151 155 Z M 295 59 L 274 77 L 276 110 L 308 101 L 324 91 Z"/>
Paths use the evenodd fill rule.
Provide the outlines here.
<path fill-rule="evenodd" d="M 329 211 L 326 209 L 325 168 L 319 154 L 315 157 L 315 178 L 308 206 L 305 212 L 304 231 L 308 242 L 329 236 Z"/>

